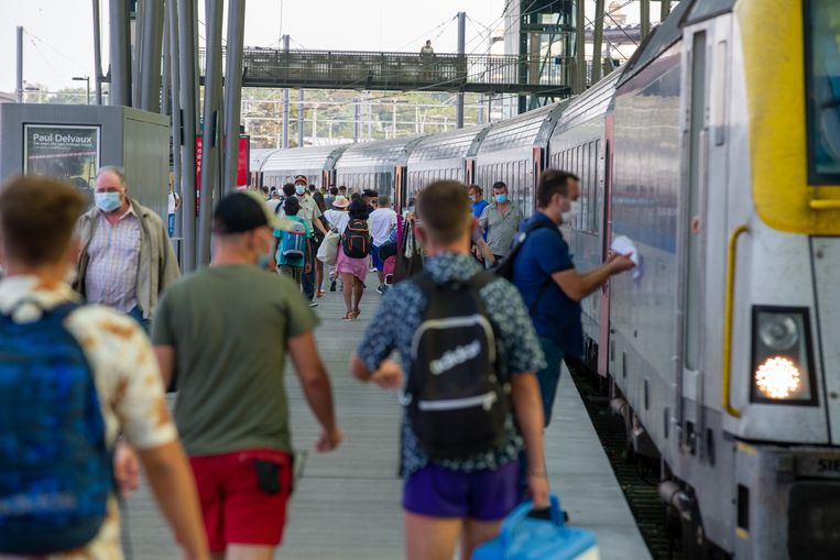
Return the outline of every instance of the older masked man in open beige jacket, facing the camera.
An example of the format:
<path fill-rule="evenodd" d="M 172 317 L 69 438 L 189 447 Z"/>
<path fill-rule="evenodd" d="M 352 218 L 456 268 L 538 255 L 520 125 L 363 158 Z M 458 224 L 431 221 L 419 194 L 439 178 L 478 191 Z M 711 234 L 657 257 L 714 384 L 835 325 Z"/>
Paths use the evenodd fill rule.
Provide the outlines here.
<path fill-rule="evenodd" d="M 163 220 L 128 196 L 119 167 L 99 169 L 95 207 L 81 216 L 75 288 L 89 303 L 128 314 L 149 329 L 157 297 L 181 277 Z"/>

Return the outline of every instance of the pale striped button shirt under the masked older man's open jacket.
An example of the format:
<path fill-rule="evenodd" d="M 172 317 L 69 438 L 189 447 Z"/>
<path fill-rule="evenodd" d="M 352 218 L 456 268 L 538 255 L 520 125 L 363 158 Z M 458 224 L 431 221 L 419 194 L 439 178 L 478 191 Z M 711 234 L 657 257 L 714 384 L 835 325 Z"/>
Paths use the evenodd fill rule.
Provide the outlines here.
<path fill-rule="evenodd" d="M 129 208 L 111 226 L 99 212 L 96 230 L 88 244 L 90 263 L 85 276 L 87 300 L 129 312 L 138 305 L 140 267 L 140 219 Z"/>

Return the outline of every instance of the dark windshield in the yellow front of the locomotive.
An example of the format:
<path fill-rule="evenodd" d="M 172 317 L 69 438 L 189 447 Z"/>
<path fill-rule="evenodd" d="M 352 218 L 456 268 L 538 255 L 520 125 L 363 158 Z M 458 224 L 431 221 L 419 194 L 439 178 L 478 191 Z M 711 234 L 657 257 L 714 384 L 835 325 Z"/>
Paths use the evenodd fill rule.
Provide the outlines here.
<path fill-rule="evenodd" d="M 809 0 L 806 18 L 809 183 L 840 183 L 840 10 Z"/>

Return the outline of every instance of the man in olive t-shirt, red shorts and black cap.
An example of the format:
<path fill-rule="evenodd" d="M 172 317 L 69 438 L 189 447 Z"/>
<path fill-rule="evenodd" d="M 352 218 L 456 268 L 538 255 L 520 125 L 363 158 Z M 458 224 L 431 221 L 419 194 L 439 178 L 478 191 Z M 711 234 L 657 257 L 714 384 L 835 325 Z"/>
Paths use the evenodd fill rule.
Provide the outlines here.
<path fill-rule="evenodd" d="M 251 193 L 225 197 L 212 265 L 166 289 L 152 331 L 164 381 L 176 380 L 175 422 L 210 551 L 241 559 L 271 558 L 282 539 L 293 470 L 286 351 L 321 425 L 317 449 L 342 439 L 317 319 L 291 279 L 264 271 L 281 221 Z"/>

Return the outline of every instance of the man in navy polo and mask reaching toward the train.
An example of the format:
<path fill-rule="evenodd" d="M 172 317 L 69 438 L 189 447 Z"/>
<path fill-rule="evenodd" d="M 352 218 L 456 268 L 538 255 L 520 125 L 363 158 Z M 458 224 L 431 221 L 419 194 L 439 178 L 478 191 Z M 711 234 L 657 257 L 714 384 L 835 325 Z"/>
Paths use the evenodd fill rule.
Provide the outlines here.
<path fill-rule="evenodd" d="M 537 211 L 522 224 L 532 229 L 513 262 L 513 283 L 534 320 L 548 365 L 537 371 L 545 425 L 560 380 L 566 354 L 580 355 L 583 331 L 580 300 L 600 288 L 614 274 L 632 268 L 630 255 L 612 254 L 601 266 L 580 273 L 558 227 L 578 210 L 579 179 L 566 172 L 546 169 L 537 186 Z"/>

